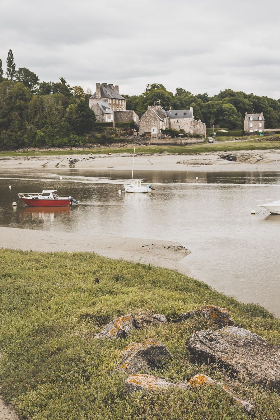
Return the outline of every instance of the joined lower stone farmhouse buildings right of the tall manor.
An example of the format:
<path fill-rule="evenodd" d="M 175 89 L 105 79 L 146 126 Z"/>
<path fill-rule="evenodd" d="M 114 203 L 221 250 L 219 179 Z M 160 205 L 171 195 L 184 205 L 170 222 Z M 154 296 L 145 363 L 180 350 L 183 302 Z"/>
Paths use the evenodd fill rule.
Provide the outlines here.
<path fill-rule="evenodd" d="M 206 124 L 201 120 L 194 119 L 193 108 L 186 110 L 165 111 L 160 105 L 148 106 L 147 111 L 139 120 L 139 134 L 146 136 L 160 137 L 160 130 L 180 130 L 183 129 L 186 134 L 192 136 L 206 136 Z"/>

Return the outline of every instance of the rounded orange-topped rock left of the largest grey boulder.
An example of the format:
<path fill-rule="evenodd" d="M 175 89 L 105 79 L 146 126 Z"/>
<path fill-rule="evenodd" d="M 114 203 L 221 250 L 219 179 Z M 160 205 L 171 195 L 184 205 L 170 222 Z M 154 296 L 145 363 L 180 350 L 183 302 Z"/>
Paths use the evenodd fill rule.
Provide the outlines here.
<path fill-rule="evenodd" d="M 123 373 L 147 372 L 148 368 L 162 366 L 172 356 L 167 347 L 160 341 L 149 338 L 142 343 L 131 343 L 121 353 L 120 366 L 117 371 Z"/>

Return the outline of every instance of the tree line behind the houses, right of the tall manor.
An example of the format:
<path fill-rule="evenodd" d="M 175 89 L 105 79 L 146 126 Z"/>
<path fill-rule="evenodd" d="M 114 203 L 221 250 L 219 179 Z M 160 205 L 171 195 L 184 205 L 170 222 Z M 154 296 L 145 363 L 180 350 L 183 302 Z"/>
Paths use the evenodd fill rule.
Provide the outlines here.
<path fill-rule="evenodd" d="M 280 126 L 280 99 L 275 100 L 266 96 L 249 95 L 225 89 L 218 95 L 210 97 L 207 93 L 193 95 L 191 92 L 178 87 L 175 95 L 165 89 L 162 84 L 148 84 L 141 95 L 126 97 L 126 109 L 134 109 L 140 116 L 147 110 L 148 105 L 159 103 L 168 109 L 189 109 L 193 107 L 196 120 L 201 119 L 208 128 L 229 130 L 243 130 L 244 117 L 248 113 L 264 113 L 265 127 Z"/>

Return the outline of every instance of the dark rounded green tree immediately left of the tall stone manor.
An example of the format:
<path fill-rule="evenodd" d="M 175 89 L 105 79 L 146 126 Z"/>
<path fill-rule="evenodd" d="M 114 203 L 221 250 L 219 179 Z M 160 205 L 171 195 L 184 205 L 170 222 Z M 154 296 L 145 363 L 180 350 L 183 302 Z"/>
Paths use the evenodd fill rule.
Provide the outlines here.
<path fill-rule="evenodd" d="M 66 110 L 66 121 L 73 128 L 75 134 L 83 135 L 93 129 L 96 118 L 87 102 L 81 99 L 78 103 L 68 106 Z"/>

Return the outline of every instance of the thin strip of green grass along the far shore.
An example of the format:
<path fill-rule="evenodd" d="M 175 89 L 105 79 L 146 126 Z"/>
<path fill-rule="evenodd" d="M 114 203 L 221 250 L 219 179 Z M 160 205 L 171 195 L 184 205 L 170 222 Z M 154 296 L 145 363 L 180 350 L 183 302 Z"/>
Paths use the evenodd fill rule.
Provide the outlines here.
<path fill-rule="evenodd" d="M 223 139 L 223 137 L 221 137 Z M 229 137 L 227 137 L 229 140 Z M 214 144 L 202 143 L 202 144 L 190 144 L 187 146 L 137 146 L 137 154 L 154 154 L 154 153 L 205 153 L 205 152 L 226 152 L 235 150 L 268 150 L 268 149 L 280 149 L 280 140 L 266 141 L 256 140 L 225 143 L 222 140 L 215 142 Z M 42 150 L 40 152 L 31 151 L 14 151 L 14 152 L 0 152 L 0 157 L 8 156 L 52 156 L 52 155 L 94 155 L 107 154 L 107 153 L 133 153 L 133 146 L 119 147 L 119 148 L 96 148 L 96 149 L 85 149 L 85 150 Z"/>

